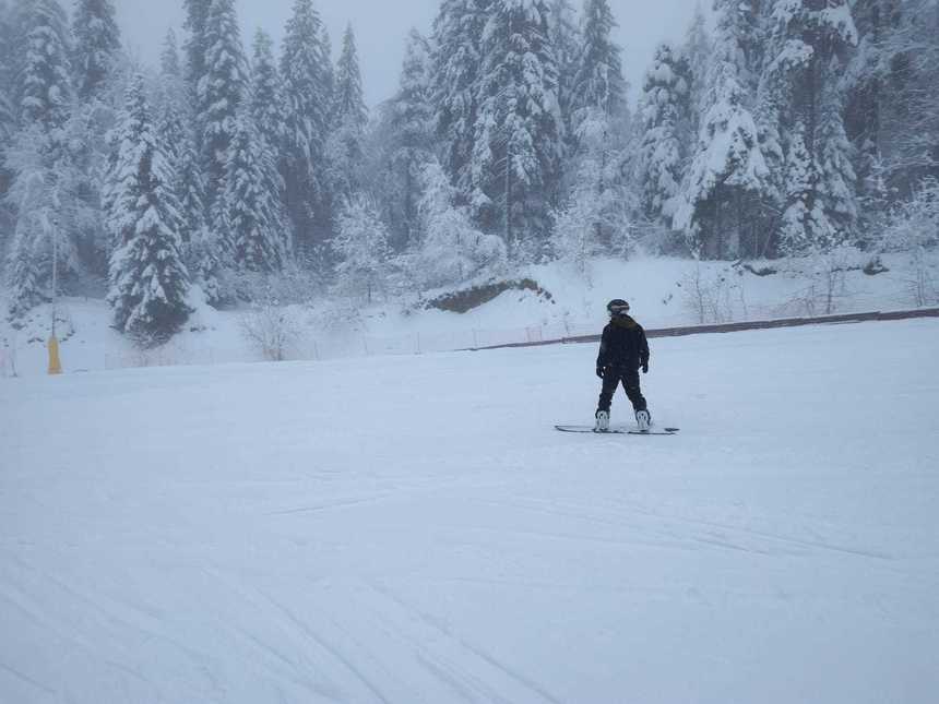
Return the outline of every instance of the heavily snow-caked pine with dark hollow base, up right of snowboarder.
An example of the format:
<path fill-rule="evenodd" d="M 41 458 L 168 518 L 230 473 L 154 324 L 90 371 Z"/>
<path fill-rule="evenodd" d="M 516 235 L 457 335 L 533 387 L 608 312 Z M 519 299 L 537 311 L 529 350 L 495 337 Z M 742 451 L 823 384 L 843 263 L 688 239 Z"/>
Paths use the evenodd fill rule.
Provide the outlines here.
<path fill-rule="evenodd" d="M 752 115 L 752 0 L 715 0 L 717 34 L 702 107 L 704 116 L 673 227 L 696 255 L 765 254 L 771 203 L 769 167 Z"/>

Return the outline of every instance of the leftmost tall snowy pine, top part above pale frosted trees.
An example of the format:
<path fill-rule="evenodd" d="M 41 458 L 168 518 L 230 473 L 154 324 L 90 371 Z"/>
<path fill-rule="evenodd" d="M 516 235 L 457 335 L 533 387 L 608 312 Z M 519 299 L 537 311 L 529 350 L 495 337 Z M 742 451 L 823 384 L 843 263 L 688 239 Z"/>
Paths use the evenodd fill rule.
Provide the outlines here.
<path fill-rule="evenodd" d="M 57 0 L 34 0 L 20 75 L 20 121 L 61 128 L 71 109 L 68 17 Z"/>

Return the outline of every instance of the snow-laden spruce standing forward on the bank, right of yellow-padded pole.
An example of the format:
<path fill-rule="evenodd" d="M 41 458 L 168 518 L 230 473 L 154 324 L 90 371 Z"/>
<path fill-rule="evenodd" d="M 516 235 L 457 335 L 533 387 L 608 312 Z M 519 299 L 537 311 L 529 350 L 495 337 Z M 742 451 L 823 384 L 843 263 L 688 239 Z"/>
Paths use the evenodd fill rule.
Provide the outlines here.
<path fill-rule="evenodd" d="M 108 302 L 115 327 L 140 344 L 168 339 L 189 317 L 173 170 L 153 127 L 143 76 L 133 79 L 108 175 L 107 225 L 115 237 Z"/>

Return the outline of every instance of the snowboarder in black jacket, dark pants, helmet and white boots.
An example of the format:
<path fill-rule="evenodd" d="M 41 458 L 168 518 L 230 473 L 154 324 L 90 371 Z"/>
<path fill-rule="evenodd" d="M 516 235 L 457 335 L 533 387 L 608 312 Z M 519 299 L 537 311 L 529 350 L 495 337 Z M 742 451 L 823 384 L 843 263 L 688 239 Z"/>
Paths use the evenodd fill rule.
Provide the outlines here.
<path fill-rule="evenodd" d="M 649 430 L 652 417 L 639 385 L 639 370 L 642 369 L 643 374 L 649 373 L 645 331 L 629 315 L 629 303 L 625 300 L 611 300 L 606 309 L 609 311 L 609 324 L 603 330 L 596 358 L 596 375 L 603 379 L 603 390 L 597 404 L 595 430 L 609 430 L 609 407 L 620 383 L 632 402 L 639 429 Z"/>

